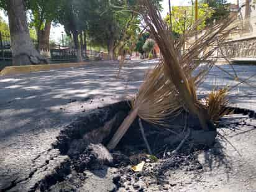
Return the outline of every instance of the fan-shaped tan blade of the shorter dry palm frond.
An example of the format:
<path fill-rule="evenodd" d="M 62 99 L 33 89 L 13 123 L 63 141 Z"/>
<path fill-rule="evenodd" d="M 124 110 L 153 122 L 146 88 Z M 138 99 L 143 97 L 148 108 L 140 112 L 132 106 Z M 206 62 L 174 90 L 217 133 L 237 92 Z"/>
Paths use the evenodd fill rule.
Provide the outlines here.
<path fill-rule="evenodd" d="M 150 71 L 140 86 L 132 101 L 132 108 L 137 106 L 140 118 L 155 124 L 163 125 L 165 117 L 180 114 L 183 103 L 171 81 L 165 78 L 162 63 Z"/>

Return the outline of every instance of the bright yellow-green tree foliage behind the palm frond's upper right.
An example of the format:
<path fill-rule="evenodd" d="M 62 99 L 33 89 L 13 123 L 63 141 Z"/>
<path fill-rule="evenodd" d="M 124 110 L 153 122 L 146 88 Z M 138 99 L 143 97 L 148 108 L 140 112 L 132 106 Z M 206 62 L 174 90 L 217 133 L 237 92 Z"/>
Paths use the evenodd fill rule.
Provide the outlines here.
<path fill-rule="evenodd" d="M 214 10 L 208 4 L 199 4 L 198 9 L 198 29 L 206 27 L 206 21 L 214 14 Z M 194 23 L 194 9 L 192 6 L 173 6 L 171 12 L 172 30 L 174 34 L 183 34 Z M 170 24 L 170 16 L 165 17 L 167 24 Z"/>

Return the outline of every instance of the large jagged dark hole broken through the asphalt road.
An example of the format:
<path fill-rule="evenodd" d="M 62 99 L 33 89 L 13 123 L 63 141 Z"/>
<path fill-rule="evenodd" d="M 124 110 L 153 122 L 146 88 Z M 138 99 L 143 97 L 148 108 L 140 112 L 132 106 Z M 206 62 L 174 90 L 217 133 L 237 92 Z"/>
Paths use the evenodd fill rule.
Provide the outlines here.
<path fill-rule="evenodd" d="M 229 107 L 229 109 L 232 109 L 235 114 L 245 114 L 249 115 L 249 117 L 255 117 L 254 111 L 232 107 Z M 73 185 L 79 188 L 79 185 L 86 178 L 83 175 L 85 174 L 85 170 L 101 170 L 103 166 L 124 168 L 127 165 L 136 165 L 142 160 L 147 161 L 149 156 L 147 155 L 147 147 L 139 129 L 138 119 L 135 119 L 114 151 L 109 152 L 104 147 L 111 140 L 129 112 L 129 101 L 121 101 L 94 109 L 88 112 L 86 116 L 79 117 L 62 129 L 60 135 L 57 137 L 57 142 L 53 146 L 59 149 L 62 155 L 68 155 L 70 157 L 70 162 L 68 162 L 70 170 L 59 175 L 56 181 L 53 181 L 52 177 L 50 183 L 47 181 L 42 182 L 40 186 L 41 190 L 58 188 L 57 191 L 59 191 L 60 188 L 62 190 L 66 189 L 67 186 L 70 186 L 70 183 L 72 185 L 71 188 L 73 188 Z M 185 127 L 190 128 L 190 137 L 188 137 L 186 145 L 183 145 L 180 151 L 183 154 L 186 153 L 186 155 L 184 158 L 183 156 L 172 158 L 171 161 L 168 161 L 168 168 L 178 166 L 177 162 L 184 163 L 191 161 L 191 158 L 193 158 L 191 153 L 197 149 L 207 149 L 213 146 L 217 135 L 216 130 L 201 130 L 198 119 L 185 113 L 180 114 L 175 119 L 170 119 L 171 129 L 152 125 L 145 121 L 142 121 L 142 124 L 150 148 L 152 149 L 153 157 L 155 158 L 163 158 L 165 152 L 176 149 L 186 135 L 186 131 L 183 130 Z M 198 162 L 192 164 L 193 167 L 200 167 Z M 168 168 L 162 167 L 160 169 L 167 170 Z M 159 170 L 159 166 L 157 166 L 157 170 Z M 153 172 L 156 171 L 154 170 Z M 162 173 L 159 172 L 159 174 Z M 66 178 L 67 175 L 71 176 Z M 115 178 L 113 178 L 113 182 L 119 188 L 120 182 L 116 181 Z"/>

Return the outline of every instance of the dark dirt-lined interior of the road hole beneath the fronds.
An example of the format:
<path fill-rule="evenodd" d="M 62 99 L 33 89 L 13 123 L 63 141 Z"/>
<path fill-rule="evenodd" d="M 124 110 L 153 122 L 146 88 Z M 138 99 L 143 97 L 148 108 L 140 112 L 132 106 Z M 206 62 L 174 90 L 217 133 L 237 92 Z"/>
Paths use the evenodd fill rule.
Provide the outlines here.
<path fill-rule="evenodd" d="M 55 147 L 63 155 L 68 155 L 71 160 L 74 160 L 76 167 L 80 167 L 78 170 L 83 171 L 87 166 L 85 162 L 88 162 L 89 151 L 92 150 L 88 149 L 88 146 L 90 144 L 103 144 L 106 146 L 122 121 L 129 114 L 129 111 L 129 101 L 121 101 L 91 111 L 88 115 L 79 117 L 65 127 L 58 136 L 58 142 Z M 186 139 L 185 145 L 181 147 L 180 152 L 190 153 L 194 149 L 205 149 L 214 144 L 217 135 L 216 130 L 201 130 L 197 118 L 183 113 L 169 121 L 169 128 L 142 121 L 145 136 L 156 158 L 162 158 L 165 156 L 165 152 L 175 150 L 188 135 L 189 129 L 190 135 Z M 101 153 L 104 152 L 101 151 Z M 111 151 L 113 157 L 111 163 L 115 167 L 134 165 L 141 160 L 146 160 L 149 157 L 146 154 L 149 154 L 149 152 L 140 132 L 139 119 L 137 118 L 116 149 Z M 83 165 L 80 166 L 80 163 Z"/>

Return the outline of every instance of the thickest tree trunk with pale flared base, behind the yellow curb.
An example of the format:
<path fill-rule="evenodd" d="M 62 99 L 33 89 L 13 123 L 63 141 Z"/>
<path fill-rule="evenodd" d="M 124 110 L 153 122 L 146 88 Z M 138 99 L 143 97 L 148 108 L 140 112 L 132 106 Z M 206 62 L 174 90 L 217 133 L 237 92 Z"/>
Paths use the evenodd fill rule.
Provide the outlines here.
<path fill-rule="evenodd" d="M 29 35 L 24 0 L 8 0 L 7 14 L 11 34 L 12 64 L 47 63 L 35 49 Z"/>

